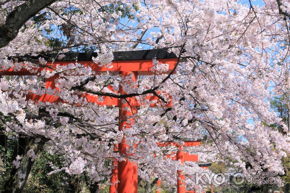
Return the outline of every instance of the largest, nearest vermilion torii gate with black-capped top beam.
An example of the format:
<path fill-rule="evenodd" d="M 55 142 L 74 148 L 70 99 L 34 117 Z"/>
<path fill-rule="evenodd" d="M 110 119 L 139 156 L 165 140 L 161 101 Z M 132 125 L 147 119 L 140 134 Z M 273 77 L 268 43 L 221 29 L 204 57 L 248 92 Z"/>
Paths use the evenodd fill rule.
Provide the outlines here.
<path fill-rule="evenodd" d="M 138 75 L 152 75 L 154 74 L 151 71 L 153 66 L 153 58 L 156 58 L 159 63 L 167 63 L 169 65 L 168 71 L 165 73 L 170 73 L 174 69 L 176 69 L 177 65 L 177 57 L 173 53 L 168 53 L 167 49 L 151 49 L 151 50 L 139 50 L 139 51 L 124 51 L 124 52 L 115 52 L 114 60 L 111 63 L 111 68 L 107 68 L 106 66 L 100 67 L 98 64 L 92 62 L 92 57 L 97 57 L 97 53 L 66 53 L 65 57 L 61 60 L 58 60 L 56 54 L 46 54 L 36 57 L 29 57 L 30 59 L 38 60 L 39 57 L 43 57 L 47 60 L 47 66 L 55 69 L 57 65 L 68 65 L 70 63 L 76 63 L 75 60 L 77 58 L 77 63 L 84 65 L 85 67 L 91 67 L 95 72 L 104 72 L 114 71 L 118 72 L 120 75 L 126 77 L 129 75 L 133 75 L 132 80 L 136 81 Z M 53 62 L 51 59 L 55 59 Z M 23 64 L 25 65 L 25 64 Z M 8 70 L 0 69 L 0 76 L 36 76 L 42 70 L 52 71 L 53 69 L 48 67 L 40 67 L 34 73 L 31 73 L 25 68 L 20 69 L 19 71 L 14 71 L 14 69 L 10 68 Z M 55 78 L 58 75 L 47 78 L 46 79 L 46 89 L 49 87 L 52 89 L 57 89 L 54 83 Z M 126 94 L 120 85 L 119 91 L 120 94 Z M 140 106 L 139 102 L 135 97 L 126 98 L 127 103 L 123 104 L 121 100 L 113 97 L 104 97 L 103 102 L 98 102 L 98 96 L 85 94 L 86 98 L 89 102 L 93 102 L 99 105 L 106 106 L 118 106 L 119 107 L 119 130 L 122 130 L 124 125 L 128 128 L 130 125 L 126 122 L 128 116 L 135 115 L 137 113 L 137 107 Z M 41 96 L 35 95 L 33 93 L 29 93 L 26 96 L 27 100 L 31 99 L 35 102 L 64 102 L 58 96 L 43 94 Z M 160 103 L 160 99 L 153 95 L 147 96 L 148 100 L 157 100 L 157 103 Z M 164 105 L 164 107 L 170 107 L 171 101 L 168 104 Z M 130 107 L 131 111 L 123 110 L 124 107 Z M 157 104 L 151 104 L 151 107 L 157 107 Z M 122 139 L 122 142 L 118 144 L 119 152 L 126 155 L 126 141 L 125 138 Z M 118 162 L 118 193 L 137 193 L 137 165 L 125 159 L 124 161 Z"/>

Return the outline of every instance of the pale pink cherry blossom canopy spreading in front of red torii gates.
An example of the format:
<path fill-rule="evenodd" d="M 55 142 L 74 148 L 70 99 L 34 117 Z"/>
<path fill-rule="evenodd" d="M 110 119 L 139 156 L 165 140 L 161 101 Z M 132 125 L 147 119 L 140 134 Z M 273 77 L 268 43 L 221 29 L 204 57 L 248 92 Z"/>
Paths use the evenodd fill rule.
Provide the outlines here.
<path fill-rule="evenodd" d="M 115 72 L 95 74 L 89 67 L 72 63 L 41 71 L 37 76 L 2 76 L 0 82 L 1 133 L 19 141 L 7 191 L 20 192 L 37 153 L 43 149 L 61 154 L 67 162 L 54 172 L 83 174 L 92 183 L 109 183 L 114 152 L 125 136 L 138 164 L 138 175 L 151 175 L 176 182 L 176 170 L 193 174 L 196 165 L 181 165 L 163 159 L 157 142 L 207 139 L 200 147 L 185 148 L 198 153 L 201 161 L 219 161 L 246 174 L 264 171 L 283 174 L 282 157 L 290 151 L 289 135 L 270 127 L 288 128 L 270 108 L 269 100 L 288 93 L 289 22 L 288 0 L 144 0 L 144 1 L 14 1 L 2 0 L 0 14 L 0 70 L 23 67 L 29 71 L 46 66 L 41 57 L 66 52 L 98 52 L 96 65 L 110 66 L 113 52 L 167 48 L 178 57 L 173 71 L 156 64 L 152 76 L 127 78 L 122 86 L 130 96 L 170 93 L 172 108 L 149 108 L 144 101 L 131 128 L 118 131 L 118 108 L 88 103 L 83 92 L 123 99 L 107 89 L 118 90 L 124 77 Z M 37 56 L 37 60 L 28 56 Z M 77 60 L 77 58 L 76 58 Z M 59 75 L 58 90 L 45 89 L 45 79 Z M 0 74 L 1 75 L 1 74 Z M 69 76 L 77 75 L 77 76 Z M 135 85 L 132 87 L 131 85 Z M 271 89 L 271 93 L 269 92 Z M 67 103 L 26 101 L 28 92 L 55 94 Z M 165 94 L 158 95 L 164 102 Z M 75 105 L 79 104 L 79 105 Z M 138 144 L 136 147 L 134 144 Z M 174 148 L 173 148 L 174 149 Z M 156 156 L 153 156 L 153 155 Z M 194 187 L 193 181 L 186 181 Z"/>

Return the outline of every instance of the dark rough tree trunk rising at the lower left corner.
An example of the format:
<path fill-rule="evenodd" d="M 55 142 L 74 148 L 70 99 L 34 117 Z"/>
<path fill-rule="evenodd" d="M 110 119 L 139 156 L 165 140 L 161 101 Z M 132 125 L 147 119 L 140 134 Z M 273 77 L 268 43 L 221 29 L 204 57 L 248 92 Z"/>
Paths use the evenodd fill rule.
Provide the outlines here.
<path fill-rule="evenodd" d="M 14 156 L 21 155 L 23 158 L 21 159 L 19 168 L 13 168 L 9 171 L 10 178 L 6 181 L 4 187 L 6 189 L 3 192 L 7 193 L 20 193 L 23 191 L 23 188 L 26 185 L 28 175 L 30 174 L 32 165 L 34 161 L 31 161 L 31 157 L 27 155 L 29 150 L 33 150 L 35 155 L 41 150 L 44 146 L 44 141 L 40 141 L 35 143 L 35 139 L 25 137 L 24 139 L 19 138 L 19 145 L 16 147 L 16 151 L 14 150 Z M 22 148 L 19 146 L 22 145 Z M 18 153 L 17 153 L 18 152 Z"/>

